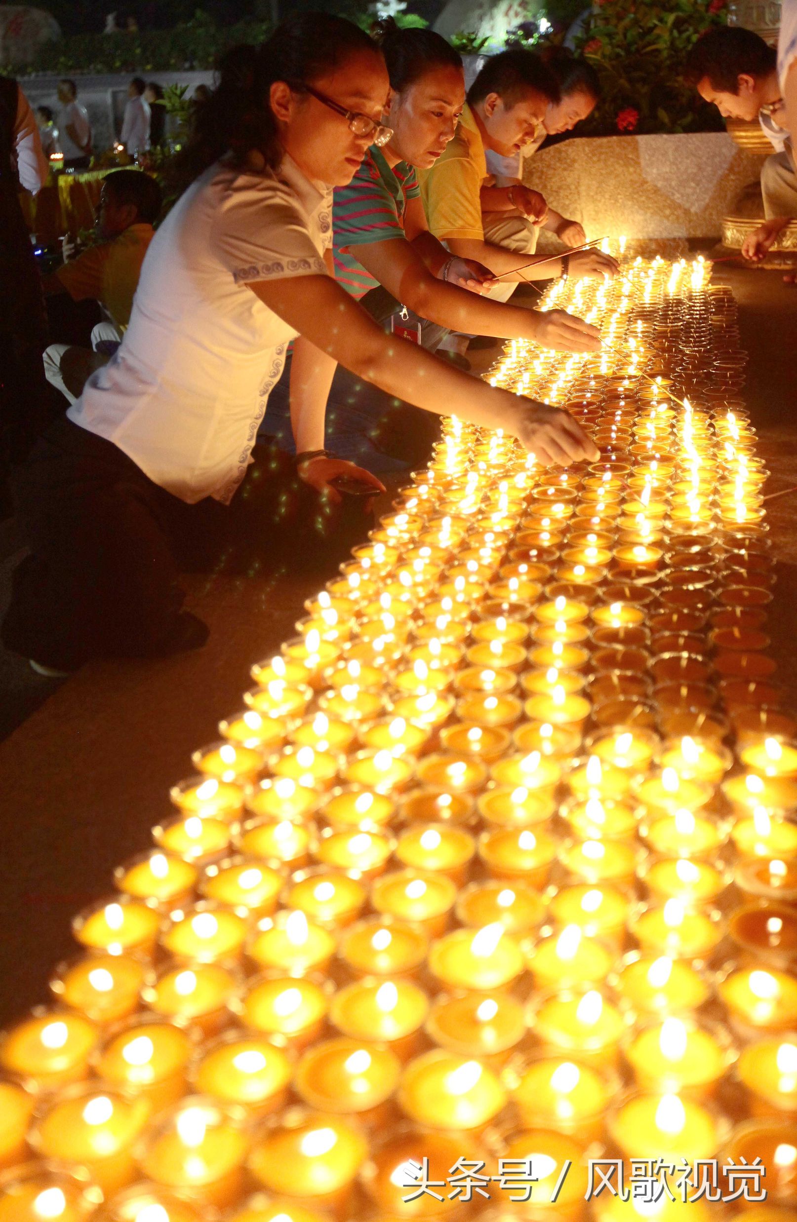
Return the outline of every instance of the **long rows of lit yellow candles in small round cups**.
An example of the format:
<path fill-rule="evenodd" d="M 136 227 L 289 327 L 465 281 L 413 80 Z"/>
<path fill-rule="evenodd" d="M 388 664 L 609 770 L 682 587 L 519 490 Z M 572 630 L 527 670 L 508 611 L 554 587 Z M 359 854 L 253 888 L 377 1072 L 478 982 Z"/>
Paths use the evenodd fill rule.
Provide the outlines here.
<path fill-rule="evenodd" d="M 600 461 L 446 420 L 4 1033 L 0 1222 L 793 1222 L 797 726 L 736 306 L 636 258 L 553 307 L 601 352 L 488 378 Z"/>

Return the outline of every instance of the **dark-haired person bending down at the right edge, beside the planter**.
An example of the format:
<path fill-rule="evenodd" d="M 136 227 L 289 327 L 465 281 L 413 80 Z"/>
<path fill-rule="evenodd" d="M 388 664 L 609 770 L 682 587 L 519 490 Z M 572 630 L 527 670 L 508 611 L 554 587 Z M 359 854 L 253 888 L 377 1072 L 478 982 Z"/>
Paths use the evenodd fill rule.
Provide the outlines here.
<path fill-rule="evenodd" d="M 781 230 L 797 218 L 797 175 L 776 60 L 775 49 L 751 29 L 720 26 L 698 39 L 683 72 L 686 81 L 726 119 L 751 122 L 758 117 L 775 149 L 762 167 L 766 219 L 742 247 L 744 258 L 753 260 L 763 259 Z"/>

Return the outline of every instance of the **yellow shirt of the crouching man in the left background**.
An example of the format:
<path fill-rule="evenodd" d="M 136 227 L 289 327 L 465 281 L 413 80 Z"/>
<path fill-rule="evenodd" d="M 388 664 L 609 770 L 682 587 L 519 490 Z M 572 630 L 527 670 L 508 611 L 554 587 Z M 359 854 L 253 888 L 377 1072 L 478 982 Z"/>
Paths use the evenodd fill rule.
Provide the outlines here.
<path fill-rule="evenodd" d="M 120 331 L 127 329 L 144 255 L 155 231 L 141 221 L 110 242 L 92 246 L 55 273 L 72 301 L 94 297 Z"/>

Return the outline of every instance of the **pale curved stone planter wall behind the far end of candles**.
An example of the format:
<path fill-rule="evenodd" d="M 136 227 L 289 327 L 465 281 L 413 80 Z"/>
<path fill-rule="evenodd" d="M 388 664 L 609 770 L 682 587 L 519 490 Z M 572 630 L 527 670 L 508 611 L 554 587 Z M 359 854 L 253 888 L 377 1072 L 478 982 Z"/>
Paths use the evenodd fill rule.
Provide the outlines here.
<path fill-rule="evenodd" d="M 526 182 L 589 237 L 719 238 L 759 170 L 726 132 L 609 136 L 535 153 Z"/>

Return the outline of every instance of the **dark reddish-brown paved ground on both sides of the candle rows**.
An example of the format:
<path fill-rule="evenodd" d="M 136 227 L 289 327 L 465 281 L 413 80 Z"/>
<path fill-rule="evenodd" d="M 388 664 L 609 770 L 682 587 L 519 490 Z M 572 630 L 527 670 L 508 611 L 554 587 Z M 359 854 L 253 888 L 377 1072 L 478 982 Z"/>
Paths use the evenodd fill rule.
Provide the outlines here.
<path fill-rule="evenodd" d="M 773 273 L 720 271 L 741 303 L 747 401 L 771 490 L 797 485 L 797 290 Z M 780 560 L 774 651 L 797 693 L 796 514 L 797 495 L 774 501 L 769 521 Z M 6 534 L 6 557 L 15 546 Z M 10 568 L 6 558 L 0 599 Z M 169 786 L 191 771 L 191 750 L 238 708 L 248 666 L 292 634 L 304 598 L 326 576 L 193 582 L 188 605 L 209 622 L 210 643 L 156 665 L 98 664 L 48 684 L 0 657 L 0 733 L 22 721 L 0 744 L 0 1023 L 45 1000 L 51 968 L 73 952 L 71 916 L 148 844 Z"/>

